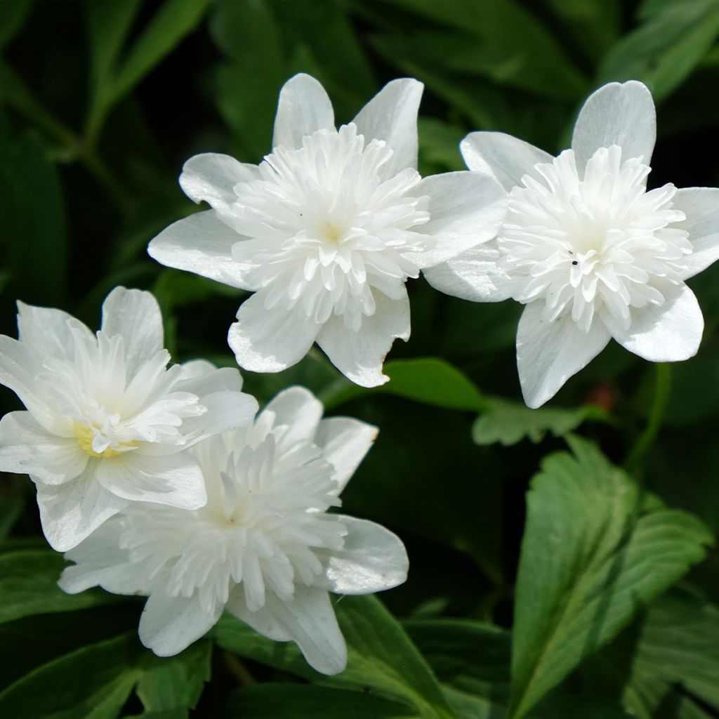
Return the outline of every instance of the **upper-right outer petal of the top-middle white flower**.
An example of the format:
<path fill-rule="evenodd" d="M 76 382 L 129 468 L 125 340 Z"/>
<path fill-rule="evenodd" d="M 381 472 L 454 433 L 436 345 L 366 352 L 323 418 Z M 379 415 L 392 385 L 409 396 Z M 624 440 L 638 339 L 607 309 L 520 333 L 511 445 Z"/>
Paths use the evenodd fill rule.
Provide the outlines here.
<path fill-rule="evenodd" d="M 365 144 L 382 139 L 392 149 L 392 157 L 383 167 L 387 177 L 417 168 L 417 113 L 423 89 L 423 84 L 413 78 L 393 80 L 352 121 L 357 132 L 365 136 Z"/>

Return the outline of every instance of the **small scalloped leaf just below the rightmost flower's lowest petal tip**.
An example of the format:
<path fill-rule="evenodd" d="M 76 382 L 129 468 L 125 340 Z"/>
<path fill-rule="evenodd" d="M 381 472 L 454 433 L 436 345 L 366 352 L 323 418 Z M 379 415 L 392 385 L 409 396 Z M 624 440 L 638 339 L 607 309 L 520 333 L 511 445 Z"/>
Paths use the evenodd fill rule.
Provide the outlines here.
<path fill-rule="evenodd" d="M 575 409 L 529 409 L 518 402 L 487 398 L 487 405 L 472 426 L 472 439 L 477 444 L 505 446 L 529 439 L 534 444 L 542 441 L 547 432 L 555 437 L 564 436 L 589 420 L 606 421 L 606 413 L 594 405 Z"/>

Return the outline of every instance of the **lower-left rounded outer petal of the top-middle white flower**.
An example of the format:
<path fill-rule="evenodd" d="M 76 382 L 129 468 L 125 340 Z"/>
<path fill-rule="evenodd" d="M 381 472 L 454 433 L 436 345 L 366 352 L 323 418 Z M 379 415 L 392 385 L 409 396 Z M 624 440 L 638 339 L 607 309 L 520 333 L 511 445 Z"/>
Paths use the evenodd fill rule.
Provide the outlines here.
<path fill-rule="evenodd" d="M 280 372 L 296 365 L 312 347 L 321 325 L 310 319 L 298 303 L 285 310 L 265 308 L 258 292 L 242 303 L 227 341 L 237 364 L 250 372 Z"/>

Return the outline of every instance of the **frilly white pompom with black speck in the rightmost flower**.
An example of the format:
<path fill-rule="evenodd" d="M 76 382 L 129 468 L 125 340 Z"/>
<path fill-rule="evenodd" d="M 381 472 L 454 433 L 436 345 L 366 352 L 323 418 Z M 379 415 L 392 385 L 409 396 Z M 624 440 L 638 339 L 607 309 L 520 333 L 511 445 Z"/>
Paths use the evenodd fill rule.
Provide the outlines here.
<path fill-rule="evenodd" d="M 566 150 L 510 193 L 501 262 L 518 280 L 515 299 L 544 300 L 546 321 L 571 314 L 587 332 L 596 316 L 628 328 L 631 308 L 661 305 L 682 283 L 692 244 L 669 226 L 686 219 L 672 209 L 677 189 L 647 192 L 649 166 L 621 154 L 600 148 L 580 178 Z"/>

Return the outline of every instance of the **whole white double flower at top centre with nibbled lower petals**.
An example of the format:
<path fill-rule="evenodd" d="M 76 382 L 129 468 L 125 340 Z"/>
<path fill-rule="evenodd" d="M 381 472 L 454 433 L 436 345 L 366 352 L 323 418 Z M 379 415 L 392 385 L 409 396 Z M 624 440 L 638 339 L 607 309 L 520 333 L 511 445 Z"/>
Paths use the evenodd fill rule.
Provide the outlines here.
<path fill-rule="evenodd" d="M 241 367 L 278 372 L 315 340 L 359 385 L 410 334 L 405 283 L 495 236 L 506 193 L 467 171 L 417 173 L 422 84 L 390 82 L 339 130 L 324 88 L 296 75 L 280 92 L 273 152 L 259 167 L 196 155 L 180 185 L 212 209 L 150 242 L 158 262 L 256 294 L 230 347 Z"/>

